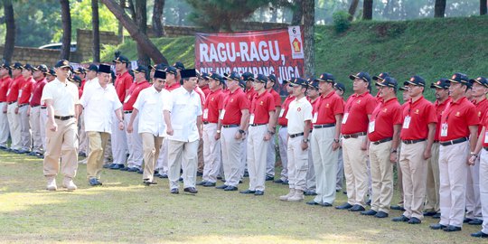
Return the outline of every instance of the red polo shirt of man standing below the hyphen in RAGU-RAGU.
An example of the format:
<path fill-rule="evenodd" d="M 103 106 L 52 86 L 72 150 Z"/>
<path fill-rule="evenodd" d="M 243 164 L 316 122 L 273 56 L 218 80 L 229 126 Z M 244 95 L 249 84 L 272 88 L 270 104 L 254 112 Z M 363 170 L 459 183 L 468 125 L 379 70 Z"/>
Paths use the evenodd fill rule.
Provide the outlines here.
<path fill-rule="evenodd" d="M 234 92 L 228 90 L 227 95 L 223 93 L 224 102 L 222 105 L 222 112 L 225 110 L 224 116 L 221 119 L 222 125 L 240 125 L 240 118 L 242 117 L 242 110 L 249 109 L 249 100 L 242 89 L 236 89 Z"/>

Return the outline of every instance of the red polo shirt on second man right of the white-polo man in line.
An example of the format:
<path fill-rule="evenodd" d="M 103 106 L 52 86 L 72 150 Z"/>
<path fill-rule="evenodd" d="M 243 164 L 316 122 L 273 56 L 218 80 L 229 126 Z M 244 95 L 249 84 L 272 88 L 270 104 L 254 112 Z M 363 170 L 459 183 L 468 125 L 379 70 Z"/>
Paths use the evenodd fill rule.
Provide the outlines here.
<path fill-rule="evenodd" d="M 368 115 L 371 115 L 374 108 L 376 108 L 376 99 L 370 92 L 352 94 L 346 101 L 341 133 L 350 135 L 368 131 Z"/>

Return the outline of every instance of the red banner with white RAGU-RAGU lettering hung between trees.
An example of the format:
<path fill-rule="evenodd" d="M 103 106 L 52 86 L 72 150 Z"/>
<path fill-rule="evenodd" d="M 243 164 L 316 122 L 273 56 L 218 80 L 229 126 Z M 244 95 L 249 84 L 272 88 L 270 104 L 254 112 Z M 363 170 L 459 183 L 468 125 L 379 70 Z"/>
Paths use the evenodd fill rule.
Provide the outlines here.
<path fill-rule="evenodd" d="M 246 33 L 195 33 L 195 69 L 274 74 L 279 83 L 304 73 L 300 26 Z"/>

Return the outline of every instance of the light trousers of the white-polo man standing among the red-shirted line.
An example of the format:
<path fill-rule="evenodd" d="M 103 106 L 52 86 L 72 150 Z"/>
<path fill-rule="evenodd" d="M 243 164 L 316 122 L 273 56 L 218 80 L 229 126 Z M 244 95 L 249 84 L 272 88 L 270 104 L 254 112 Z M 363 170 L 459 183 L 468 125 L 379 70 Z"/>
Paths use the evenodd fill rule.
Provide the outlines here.
<path fill-rule="evenodd" d="M 308 151 L 302 149 L 304 136 L 288 137 L 288 184 L 290 189 L 306 190 L 306 172 L 308 170 Z"/>

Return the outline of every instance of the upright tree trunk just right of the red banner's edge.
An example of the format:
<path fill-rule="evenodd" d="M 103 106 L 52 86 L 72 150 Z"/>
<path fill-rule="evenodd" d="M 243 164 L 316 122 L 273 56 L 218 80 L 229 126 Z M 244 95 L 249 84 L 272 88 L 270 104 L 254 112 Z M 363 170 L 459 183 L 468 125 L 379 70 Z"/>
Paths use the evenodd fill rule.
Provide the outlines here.
<path fill-rule="evenodd" d="M 314 0 L 303 0 L 304 11 L 304 54 L 305 54 L 305 77 L 313 77 L 315 74 L 315 2 Z"/>

